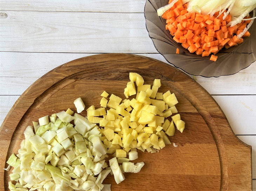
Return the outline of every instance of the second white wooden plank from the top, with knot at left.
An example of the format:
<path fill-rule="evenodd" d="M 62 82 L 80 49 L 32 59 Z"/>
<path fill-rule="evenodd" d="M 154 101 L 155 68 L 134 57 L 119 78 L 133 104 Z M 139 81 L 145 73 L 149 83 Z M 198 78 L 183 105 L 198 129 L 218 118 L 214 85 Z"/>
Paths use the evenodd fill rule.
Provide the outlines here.
<path fill-rule="evenodd" d="M 4 13 L 1 51 L 157 53 L 143 13 Z"/>

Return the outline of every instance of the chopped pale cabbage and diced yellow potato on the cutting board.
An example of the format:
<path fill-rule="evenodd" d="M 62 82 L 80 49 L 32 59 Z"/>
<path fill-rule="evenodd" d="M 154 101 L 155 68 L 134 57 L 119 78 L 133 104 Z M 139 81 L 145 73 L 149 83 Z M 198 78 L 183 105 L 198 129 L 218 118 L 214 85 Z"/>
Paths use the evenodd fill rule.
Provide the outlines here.
<path fill-rule="evenodd" d="M 108 191 L 111 185 L 102 184 L 108 174 L 119 184 L 124 172 L 140 172 L 144 162 L 130 162 L 138 159 L 137 149 L 156 153 L 171 144 L 167 135 L 174 135 L 174 124 L 181 133 L 185 128 L 180 114 L 173 115 L 178 103 L 174 93 L 159 93 L 160 79 L 151 87 L 137 73 L 129 78 L 124 95 L 136 94 L 132 100 L 114 94 L 107 100 L 109 94 L 103 91 L 101 108 L 90 106 L 87 117 L 78 114 L 85 104 L 77 98 L 77 113 L 68 108 L 33 122 L 34 128 L 29 125 L 18 154 L 7 161 L 5 170 L 14 167 L 10 179 L 16 182 L 10 181 L 9 189 Z M 166 119 L 170 116 L 171 122 Z"/>

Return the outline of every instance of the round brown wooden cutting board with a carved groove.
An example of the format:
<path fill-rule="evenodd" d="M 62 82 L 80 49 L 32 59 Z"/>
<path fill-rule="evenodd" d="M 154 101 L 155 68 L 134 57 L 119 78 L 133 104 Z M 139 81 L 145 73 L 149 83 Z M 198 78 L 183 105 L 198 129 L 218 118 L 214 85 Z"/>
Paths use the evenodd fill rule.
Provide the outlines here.
<path fill-rule="evenodd" d="M 161 79 L 160 92 L 170 90 L 186 122 L 176 130 L 159 153 L 139 152 L 145 166 L 137 174 L 126 173 L 116 184 L 113 176 L 103 183 L 112 190 L 236 190 L 252 189 L 251 146 L 240 141 L 221 108 L 197 82 L 163 62 L 133 54 L 98 54 L 63 64 L 33 83 L 16 101 L 0 128 L 0 190 L 8 190 L 8 172 L 2 170 L 17 153 L 27 125 L 38 118 L 70 108 L 81 97 L 86 108 L 99 107 L 103 90 L 121 98 L 129 72 L 143 76 L 145 83 Z M 86 112 L 81 113 L 83 116 Z M 242 128 L 242 127 L 241 127 Z M 2 184 L 4 182 L 4 184 Z"/>

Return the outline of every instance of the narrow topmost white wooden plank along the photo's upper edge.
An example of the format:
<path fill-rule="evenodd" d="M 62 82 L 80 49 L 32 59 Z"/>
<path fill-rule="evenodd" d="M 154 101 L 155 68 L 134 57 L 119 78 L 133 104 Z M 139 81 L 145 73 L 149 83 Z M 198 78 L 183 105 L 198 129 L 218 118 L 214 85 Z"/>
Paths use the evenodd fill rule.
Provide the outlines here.
<path fill-rule="evenodd" d="M 143 13 L 146 0 L 1 0 L 0 10 Z"/>

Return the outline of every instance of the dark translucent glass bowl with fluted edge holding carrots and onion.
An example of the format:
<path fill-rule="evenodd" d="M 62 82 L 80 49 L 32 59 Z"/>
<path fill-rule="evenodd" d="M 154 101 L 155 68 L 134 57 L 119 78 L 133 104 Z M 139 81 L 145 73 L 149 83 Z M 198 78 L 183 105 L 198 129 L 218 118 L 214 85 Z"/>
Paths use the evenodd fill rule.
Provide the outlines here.
<path fill-rule="evenodd" d="M 146 28 L 156 50 L 175 67 L 182 69 L 191 75 L 204 77 L 219 77 L 231 75 L 247 68 L 256 60 L 256 21 L 249 29 L 250 37 L 244 37 L 244 42 L 223 49 L 216 54 L 216 62 L 209 60 L 210 56 L 202 57 L 190 53 L 180 43 L 173 40 L 169 31 L 165 29 L 166 20 L 157 16 L 156 10 L 168 4 L 168 0 L 147 0 L 144 8 Z M 176 48 L 180 54 L 176 54 Z"/>

